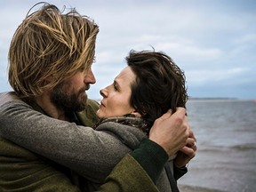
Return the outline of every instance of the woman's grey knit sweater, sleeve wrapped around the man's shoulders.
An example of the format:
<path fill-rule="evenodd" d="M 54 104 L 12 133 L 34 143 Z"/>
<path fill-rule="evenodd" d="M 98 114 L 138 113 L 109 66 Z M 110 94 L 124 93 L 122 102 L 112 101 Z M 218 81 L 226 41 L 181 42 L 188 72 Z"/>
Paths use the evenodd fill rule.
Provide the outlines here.
<path fill-rule="evenodd" d="M 146 137 L 140 129 L 124 124 L 108 122 L 100 124 L 95 131 L 57 120 L 13 98 L 4 101 L 0 114 L 1 135 L 78 172 L 90 180 L 92 189 Z M 156 186 L 160 191 L 171 191 L 164 170 Z"/>

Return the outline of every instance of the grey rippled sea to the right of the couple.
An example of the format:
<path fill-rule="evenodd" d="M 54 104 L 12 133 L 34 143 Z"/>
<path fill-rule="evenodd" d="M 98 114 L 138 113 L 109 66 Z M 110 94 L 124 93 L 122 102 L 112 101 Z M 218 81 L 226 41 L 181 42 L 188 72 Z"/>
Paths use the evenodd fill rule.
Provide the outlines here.
<path fill-rule="evenodd" d="M 256 191 L 256 100 L 188 100 L 196 157 L 180 192 Z"/>

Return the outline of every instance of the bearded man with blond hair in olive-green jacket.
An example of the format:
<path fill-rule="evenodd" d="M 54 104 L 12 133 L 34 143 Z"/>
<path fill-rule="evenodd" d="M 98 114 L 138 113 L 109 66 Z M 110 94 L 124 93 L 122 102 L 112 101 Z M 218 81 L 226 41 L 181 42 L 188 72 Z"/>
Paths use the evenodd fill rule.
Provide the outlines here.
<path fill-rule="evenodd" d="M 17 28 L 9 51 L 9 82 L 15 94 L 3 93 L 0 96 L 0 130 L 9 139 L 0 139 L 1 191 L 87 189 L 86 183 L 84 180 L 81 182 L 76 172 L 12 143 L 17 140 L 12 140 L 12 133 L 6 134 L 8 130 L 4 129 L 3 124 L 12 124 L 13 130 L 22 129 L 25 126 L 23 121 L 29 118 L 22 113 L 26 108 L 34 108 L 40 114 L 60 119 L 60 124 L 66 128 L 70 125 L 68 122 L 86 126 L 97 123 L 95 110 L 98 105 L 93 100 L 87 100 L 85 91 L 96 82 L 91 68 L 98 32 L 98 26 L 89 18 L 75 10 L 62 14 L 52 4 L 46 4 L 28 15 Z M 78 111 L 82 112 L 76 113 Z M 169 112 L 156 120 L 149 140 L 141 143 L 131 155 L 124 156 L 99 190 L 157 191 L 154 181 L 168 156 L 182 148 L 180 151 L 183 153 L 179 152 L 181 155 L 177 157 L 179 167 L 195 156 L 196 147 L 191 146 L 196 139 L 189 130 L 185 113 L 185 109 L 180 108 L 172 116 Z M 40 118 L 38 121 L 34 124 L 41 124 Z M 46 127 L 51 126 L 51 122 L 44 122 L 42 126 L 47 132 Z M 33 124 L 28 127 L 33 129 Z M 103 140 L 104 146 L 111 148 L 107 133 L 88 127 L 81 132 L 84 132 L 86 139 L 83 141 L 90 147 L 100 148 L 100 141 Z M 31 132 L 31 139 L 33 134 L 36 132 Z M 67 134 L 72 137 L 72 132 Z M 64 140 L 63 144 L 72 148 L 72 142 L 68 143 L 68 140 Z M 122 158 L 119 154 L 116 156 Z"/>

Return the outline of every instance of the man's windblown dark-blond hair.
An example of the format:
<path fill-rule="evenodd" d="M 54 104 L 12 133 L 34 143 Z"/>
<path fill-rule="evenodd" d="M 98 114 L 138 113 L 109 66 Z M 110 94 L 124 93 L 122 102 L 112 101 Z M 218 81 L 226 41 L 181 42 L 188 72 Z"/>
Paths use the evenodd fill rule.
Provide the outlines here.
<path fill-rule="evenodd" d="M 44 4 L 28 12 L 15 31 L 9 50 L 9 83 L 20 98 L 33 100 L 78 70 L 91 68 L 99 27 L 75 9 L 63 12 Z"/>

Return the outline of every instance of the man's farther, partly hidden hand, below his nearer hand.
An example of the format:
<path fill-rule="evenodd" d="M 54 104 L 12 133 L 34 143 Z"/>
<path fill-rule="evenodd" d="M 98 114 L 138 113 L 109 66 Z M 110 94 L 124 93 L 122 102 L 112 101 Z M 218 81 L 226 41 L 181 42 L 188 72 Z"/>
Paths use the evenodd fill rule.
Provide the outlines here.
<path fill-rule="evenodd" d="M 188 162 L 196 156 L 196 137 L 190 130 L 187 145 L 181 148 L 176 158 L 174 159 L 174 165 L 178 168 L 184 167 Z"/>

